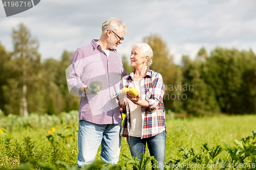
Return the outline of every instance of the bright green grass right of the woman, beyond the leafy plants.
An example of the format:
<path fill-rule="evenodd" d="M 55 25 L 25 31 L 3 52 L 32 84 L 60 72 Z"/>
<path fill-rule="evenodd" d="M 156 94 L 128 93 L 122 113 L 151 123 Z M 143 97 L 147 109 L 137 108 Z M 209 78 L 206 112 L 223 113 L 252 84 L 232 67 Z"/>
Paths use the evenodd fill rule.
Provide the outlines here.
<path fill-rule="evenodd" d="M 256 129 L 256 115 L 218 116 L 167 121 L 165 160 L 179 157 L 177 148 L 200 149 L 203 143 L 215 147 L 234 145 L 234 139 L 249 136 Z M 226 152 L 223 152 L 223 154 Z"/>

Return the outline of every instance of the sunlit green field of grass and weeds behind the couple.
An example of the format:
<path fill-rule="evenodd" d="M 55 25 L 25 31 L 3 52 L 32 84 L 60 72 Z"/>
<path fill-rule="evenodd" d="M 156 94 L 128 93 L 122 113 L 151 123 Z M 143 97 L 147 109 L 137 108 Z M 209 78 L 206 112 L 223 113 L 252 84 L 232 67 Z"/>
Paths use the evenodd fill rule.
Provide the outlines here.
<path fill-rule="evenodd" d="M 15 167 L 20 162 L 29 162 L 29 158 L 39 160 L 42 163 L 54 164 L 56 160 L 67 163 L 70 167 L 76 164 L 78 112 L 62 113 L 59 116 L 32 114 L 28 119 L 9 115 L 0 120 L 0 167 Z M 201 118 L 178 118 L 167 120 L 167 139 L 165 149 L 165 161 L 181 158 L 179 148 L 191 149 L 201 152 L 203 143 L 208 143 L 210 148 L 225 144 L 231 147 L 235 139 L 250 136 L 249 131 L 256 129 L 256 115 L 241 116 L 216 116 Z M 48 136 L 51 128 L 55 131 Z M 0 131 L 1 132 L 1 131 Z M 31 138 L 31 148 L 26 149 Z M 47 137 L 48 136 L 48 137 Z M 11 139 L 10 139 L 11 137 Z M 49 139 L 51 140 L 50 142 Z M 8 139 L 10 139 L 8 144 Z M 6 148 L 9 147 L 7 150 Z M 121 154 L 130 155 L 129 147 L 125 138 L 122 138 Z M 99 150 L 100 151 L 100 150 Z M 254 150 L 255 151 L 255 150 Z M 3 153 L 5 152 L 5 153 Z M 255 151 L 256 152 L 256 151 Z M 14 157 L 19 154 L 19 158 Z M 4 155 L 9 155 L 7 158 Z M 149 156 L 148 151 L 146 155 Z M 217 157 L 226 158 L 227 151 L 223 151 Z M 228 158 L 228 157 L 227 157 Z M 99 153 L 96 160 L 100 159 Z M 230 159 L 230 158 L 228 158 Z M 7 160 L 12 162 L 8 164 Z M 120 162 L 125 157 L 120 155 Z M 2 162 L 1 162 L 2 161 Z M 248 161 L 247 159 L 245 161 Z M 16 164 L 13 164 L 15 162 Z M 129 166 L 131 167 L 131 166 Z"/>

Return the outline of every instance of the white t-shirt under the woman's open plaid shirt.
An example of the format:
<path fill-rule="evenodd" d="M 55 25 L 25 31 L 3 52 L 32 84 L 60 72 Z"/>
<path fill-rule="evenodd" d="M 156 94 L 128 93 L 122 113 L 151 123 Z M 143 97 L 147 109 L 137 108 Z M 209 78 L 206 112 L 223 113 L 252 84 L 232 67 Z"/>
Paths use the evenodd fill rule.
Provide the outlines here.
<path fill-rule="evenodd" d="M 140 91 L 140 82 L 141 79 L 134 79 L 134 88 Z M 141 115 L 141 106 L 135 105 L 132 101 L 127 99 L 129 109 L 130 109 L 130 136 L 141 137 L 142 133 L 142 115 Z"/>

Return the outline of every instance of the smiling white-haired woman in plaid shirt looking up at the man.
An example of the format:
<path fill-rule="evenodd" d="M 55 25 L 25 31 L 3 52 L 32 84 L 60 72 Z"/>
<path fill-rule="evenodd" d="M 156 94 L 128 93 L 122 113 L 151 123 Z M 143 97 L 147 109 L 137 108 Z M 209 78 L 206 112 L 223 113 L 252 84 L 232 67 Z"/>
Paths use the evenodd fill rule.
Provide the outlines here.
<path fill-rule="evenodd" d="M 160 169 L 164 169 L 166 124 L 163 95 L 165 86 L 162 76 L 148 69 L 152 64 L 153 51 L 146 43 L 134 44 L 131 53 L 131 66 L 134 71 L 121 80 L 120 88 L 134 87 L 139 95 L 134 98 L 130 93 L 127 98 L 119 96 L 120 107 L 126 110 L 120 136 L 127 137 L 132 156 L 145 153 L 146 143 L 151 156 L 155 156 Z"/>

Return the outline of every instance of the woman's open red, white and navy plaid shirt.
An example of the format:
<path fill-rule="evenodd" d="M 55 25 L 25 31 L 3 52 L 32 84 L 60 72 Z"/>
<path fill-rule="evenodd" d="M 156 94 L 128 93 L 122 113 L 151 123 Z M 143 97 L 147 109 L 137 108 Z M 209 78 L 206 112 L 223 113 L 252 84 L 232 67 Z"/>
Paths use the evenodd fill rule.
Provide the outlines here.
<path fill-rule="evenodd" d="M 134 83 L 134 72 L 125 76 L 121 80 L 120 88 L 130 88 Z M 166 88 L 163 83 L 162 75 L 147 68 L 145 76 L 141 79 L 141 99 L 149 103 L 148 108 L 141 107 L 142 132 L 141 138 L 152 137 L 166 129 L 165 113 L 163 105 L 163 95 Z M 126 102 L 127 103 L 127 102 Z M 126 104 L 126 115 L 120 136 L 130 137 L 130 112 L 129 105 Z"/>

